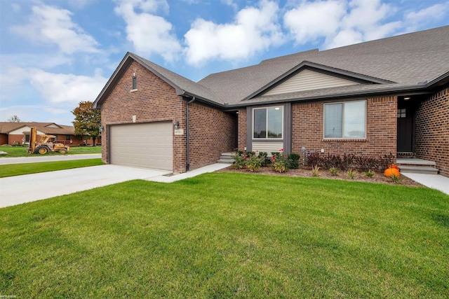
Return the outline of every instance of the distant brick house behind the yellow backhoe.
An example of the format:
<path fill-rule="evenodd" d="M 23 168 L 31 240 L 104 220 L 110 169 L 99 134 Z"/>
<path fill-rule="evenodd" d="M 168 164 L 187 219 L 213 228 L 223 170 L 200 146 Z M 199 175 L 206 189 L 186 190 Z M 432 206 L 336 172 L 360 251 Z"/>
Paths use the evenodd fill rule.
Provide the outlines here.
<path fill-rule="evenodd" d="M 92 139 L 75 136 L 71 125 L 58 125 L 55 123 L 8 123 L 0 122 L 0 144 L 29 144 L 31 127 L 36 127 L 38 138 L 43 135 L 55 135 L 53 142 L 79 146 L 92 144 Z M 39 140 L 39 139 L 38 139 Z"/>

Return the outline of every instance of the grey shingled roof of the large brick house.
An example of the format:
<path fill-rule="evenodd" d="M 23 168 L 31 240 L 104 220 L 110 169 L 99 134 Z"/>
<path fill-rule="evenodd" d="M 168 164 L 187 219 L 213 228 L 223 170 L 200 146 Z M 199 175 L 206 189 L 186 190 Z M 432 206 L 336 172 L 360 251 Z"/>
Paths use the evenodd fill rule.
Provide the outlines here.
<path fill-rule="evenodd" d="M 196 97 L 221 107 L 429 90 L 438 84 L 449 83 L 449 26 L 330 50 L 315 49 L 276 57 L 250 67 L 210 74 L 198 83 L 138 55 L 126 53 L 95 99 L 94 108 L 101 108 L 133 61 L 175 88 L 177 95 Z M 302 69 L 325 71 L 361 84 L 263 96 L 264 92 Z"/>

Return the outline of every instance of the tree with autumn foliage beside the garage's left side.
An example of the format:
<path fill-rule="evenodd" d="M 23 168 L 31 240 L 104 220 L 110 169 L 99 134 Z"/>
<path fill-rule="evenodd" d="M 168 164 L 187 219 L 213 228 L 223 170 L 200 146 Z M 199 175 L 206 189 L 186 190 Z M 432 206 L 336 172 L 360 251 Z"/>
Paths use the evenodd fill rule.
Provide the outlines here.
<path fill-rule="evenodd" d="M 93 109 L 92 104 L 89 101 L 79 102 L 79 106 L 72 111 L 75 116 L 72 123 L 75 135 L 92 137 L 95 146 L 95 139 L 100 136 L 101 113 L 100 109 Z"/>

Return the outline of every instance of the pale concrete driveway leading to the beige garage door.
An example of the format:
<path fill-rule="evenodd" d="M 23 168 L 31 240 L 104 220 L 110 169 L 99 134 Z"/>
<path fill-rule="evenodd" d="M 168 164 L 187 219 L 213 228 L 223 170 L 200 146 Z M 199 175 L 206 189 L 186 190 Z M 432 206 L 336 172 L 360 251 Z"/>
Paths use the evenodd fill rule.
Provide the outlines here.
<path fill-rule="evenodd" d="M 133 179 L 150 179 L 165 174 L 171 174 L 171 172 L 119 165 L 100 165 L 9 176 L 0 179 L 0 208 Z"/>

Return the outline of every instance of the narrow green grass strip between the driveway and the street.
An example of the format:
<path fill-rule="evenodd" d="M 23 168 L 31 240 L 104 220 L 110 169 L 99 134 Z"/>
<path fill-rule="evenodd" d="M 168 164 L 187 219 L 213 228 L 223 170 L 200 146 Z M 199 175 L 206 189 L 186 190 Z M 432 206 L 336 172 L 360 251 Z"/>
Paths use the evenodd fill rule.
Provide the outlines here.
<path fill-rule="evenodd" d="M 6 176 L 21 176 L 22 174 L 36 174 L 39 172 L 54 172 L 55 170 L 72 169 L 103 164 L 104 163 L 101 161 L 101 159 L 98 158 L 86 160 L 0 165 L 0 178 L 4 178 Z"/>

